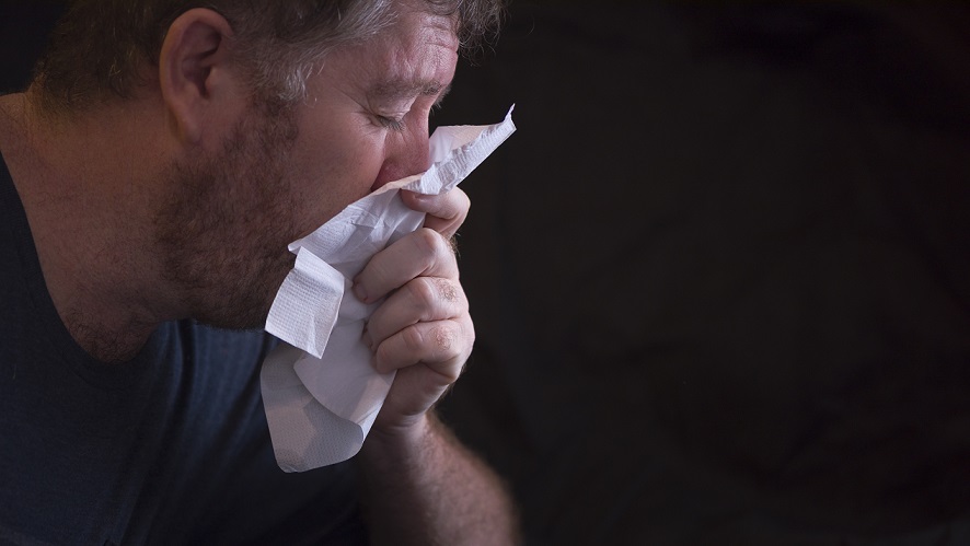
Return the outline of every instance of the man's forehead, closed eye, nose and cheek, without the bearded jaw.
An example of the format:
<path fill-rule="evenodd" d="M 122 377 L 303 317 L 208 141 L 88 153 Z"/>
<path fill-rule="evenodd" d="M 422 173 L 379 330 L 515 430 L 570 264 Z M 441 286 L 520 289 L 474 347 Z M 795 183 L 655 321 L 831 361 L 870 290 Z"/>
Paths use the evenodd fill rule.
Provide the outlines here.
<path fill-rule="evenodd" d="M 424 1 L 418 2 L 424 4 Z M 328 55 L 299 105 L 293 173 L 302 236 L 379 186 L 427 170 L 428 116 L 454 77 L 452 21 L 404 11 L 382 36 Z"/>

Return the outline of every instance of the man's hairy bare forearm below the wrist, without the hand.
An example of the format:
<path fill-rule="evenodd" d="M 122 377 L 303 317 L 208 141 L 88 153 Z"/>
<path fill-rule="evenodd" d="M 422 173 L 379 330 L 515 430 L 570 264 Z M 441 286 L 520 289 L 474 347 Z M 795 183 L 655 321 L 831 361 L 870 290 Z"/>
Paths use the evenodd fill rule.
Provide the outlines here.
<path fill-rule="evenodd" d="M 357 460 L 373 544 L 518 542 L 501 480 L 437 418 L 406 434 L 372 432 Z"/>

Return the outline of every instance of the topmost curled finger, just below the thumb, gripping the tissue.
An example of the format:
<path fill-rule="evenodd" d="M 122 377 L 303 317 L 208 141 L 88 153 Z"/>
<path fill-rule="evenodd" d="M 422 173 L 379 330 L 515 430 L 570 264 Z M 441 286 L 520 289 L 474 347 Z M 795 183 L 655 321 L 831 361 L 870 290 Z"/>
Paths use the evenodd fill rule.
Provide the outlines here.
<path fill-rule="evenodd" d="M 371 303 L 417 277 L 458 279 L 458 260 L 437 231 L 422 228 L 374 254 L 354 279 L 354 293 Z"/>

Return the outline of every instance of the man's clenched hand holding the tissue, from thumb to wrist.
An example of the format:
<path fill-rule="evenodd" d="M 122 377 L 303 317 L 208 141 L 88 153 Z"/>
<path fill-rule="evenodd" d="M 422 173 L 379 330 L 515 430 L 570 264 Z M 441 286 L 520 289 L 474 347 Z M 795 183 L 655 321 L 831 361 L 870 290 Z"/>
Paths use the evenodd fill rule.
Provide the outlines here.
<path fill-rule="evenodd" d="M 411 429 L 458 380 L 472 352 L 474 326 L 449 241 L 467 216 L 461 189 L 440 196 L 403 193 L 412 209 L 427 212 L 425 226 L 371 258 L 354 282 L 365 302 L 388 299 L 367 324 L 365 341 L 374 367 L 397 370 L 374 429 Z"/>

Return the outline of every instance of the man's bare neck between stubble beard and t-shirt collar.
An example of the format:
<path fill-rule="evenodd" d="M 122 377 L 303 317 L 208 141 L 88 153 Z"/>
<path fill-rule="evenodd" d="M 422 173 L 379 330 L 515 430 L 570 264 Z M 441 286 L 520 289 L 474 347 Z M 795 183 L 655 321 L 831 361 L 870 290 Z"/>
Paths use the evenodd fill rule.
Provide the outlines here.
<path fill-rule="evenodd" d="M 164 118 L 146 112 L 63 121 L 39 115 L 30 95 L 0 97 L 0 149 L 54 305 L 74 340 L 106 362 L 129 360 L 180 315 L 153 252 L 162 196 L 150 176 L 162 143 L 142 129 Z"/>

